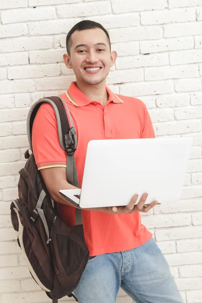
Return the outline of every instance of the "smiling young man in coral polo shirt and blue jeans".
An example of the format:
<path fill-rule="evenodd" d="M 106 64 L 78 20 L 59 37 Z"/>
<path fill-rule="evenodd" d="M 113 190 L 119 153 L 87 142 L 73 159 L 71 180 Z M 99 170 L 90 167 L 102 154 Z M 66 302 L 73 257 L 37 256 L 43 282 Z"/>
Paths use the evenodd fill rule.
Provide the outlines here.
<path fill-rule="evenodd" d="M 61 97 L 77 130 L 75 161 L 80 186 L 89 140 L 155 137 L 145 105 L 106 87 L 116 58 L 108 32 L 98 23 L 81 21 L 67 35 L 64 62 L 73 69 L 76 82 Z M 54 111 L 48 104 L 37 112 L 32 143 L 36 164 L 49 193 L 58 202 L 60 216 L 74 225 L 75 207 L 59 193 L 74 186 L 66 179 L 66 154 L 59 143 Z M 134 195 L 126 207 L 82 211 L 90 258 L 74 291 L 79 303 L 115 303 L 120 287 L 137 303 L 183 302 L 161 250 L 141 225 L 139 212 L 157 204 L 154 201 L 145 207 L 146 196 L 142 195 L 137 206 Z"/>

